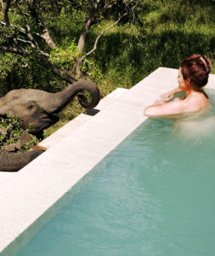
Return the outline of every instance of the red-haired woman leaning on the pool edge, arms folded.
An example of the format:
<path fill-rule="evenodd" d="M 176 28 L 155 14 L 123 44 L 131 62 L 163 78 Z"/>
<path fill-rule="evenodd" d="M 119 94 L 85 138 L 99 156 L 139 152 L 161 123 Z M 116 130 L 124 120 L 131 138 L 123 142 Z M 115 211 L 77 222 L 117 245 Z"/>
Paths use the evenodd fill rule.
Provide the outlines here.
<path fill-rule="evenodd" d="M 181 62 L 178 70 L 178 88 L 161 96 L 144 109 L 144 115 L 155 118 L 173 118 L 182 113 L 202 113 L 210 108 L 208 96 L 202 87 L 207 84 L 211 61 L 206 56 L 191 55 Z M 184 98 L 173 99 L 178 92 L 184 91 Z"/>

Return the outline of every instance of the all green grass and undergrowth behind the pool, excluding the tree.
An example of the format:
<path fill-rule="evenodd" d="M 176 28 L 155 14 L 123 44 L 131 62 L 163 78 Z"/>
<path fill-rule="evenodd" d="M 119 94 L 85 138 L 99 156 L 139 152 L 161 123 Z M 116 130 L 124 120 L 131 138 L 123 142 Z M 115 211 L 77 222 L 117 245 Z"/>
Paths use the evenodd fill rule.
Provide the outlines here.
<path fill-rule="evenodd" d="M 93 48 L 98 34 L 117 18 L 116 12 L 105 15 L 102 22 L 91 26 L 84 52 L 80 53 L 77 44 L 82 24 L 88 15 L 88 1 L 82 1 L 86 3 L 82 7 L 78 5 L 81 2 L 76 1 L 54 1 L 54 5 L 49 2 L 45 4 L 45 11 L 40 13 L 42 19 L 46 19 L 46 26 L 57 44 L 54 49 L 48 49 L 49 61 L 68 73 L 74 73 L 76 60 Z M 81 77 L 96 82 L 102 96 L 117 87 L 131 88 L 157 67 L 178 68 L 184 57 L 194 53 L 207 55 L 214 60 L 215 1 L 138 2 L 141 4 L 133 12 L 99 38 L 97 49 L 82 62 Z M 17 20 L 12 17 L 12 21 Z M 40 44 L 43 44 L 42 41 Z M 63 79 L 39 65 L 35 55 L 37 53 L 23 57 L 0 51 L 1 96 L 8 90 L 21 87 L 57 91 L 66 86 Z M 214 67 L 212 73 L 215 73 Z M 59 113 L 62 124 L 49 128 L 46 134 L 82 111 L 77 102 L 71 103 Z"/>

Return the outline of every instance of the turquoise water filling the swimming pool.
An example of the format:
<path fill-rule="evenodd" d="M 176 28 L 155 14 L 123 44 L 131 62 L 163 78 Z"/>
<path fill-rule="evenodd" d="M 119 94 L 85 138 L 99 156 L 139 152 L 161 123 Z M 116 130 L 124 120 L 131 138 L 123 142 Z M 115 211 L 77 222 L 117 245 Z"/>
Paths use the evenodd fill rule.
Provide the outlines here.
<path fill-rule="evenodd" d="M 213 256 L 214 159 L 215 134 L 187 140 L 148 119 L 13 255 Z"/>

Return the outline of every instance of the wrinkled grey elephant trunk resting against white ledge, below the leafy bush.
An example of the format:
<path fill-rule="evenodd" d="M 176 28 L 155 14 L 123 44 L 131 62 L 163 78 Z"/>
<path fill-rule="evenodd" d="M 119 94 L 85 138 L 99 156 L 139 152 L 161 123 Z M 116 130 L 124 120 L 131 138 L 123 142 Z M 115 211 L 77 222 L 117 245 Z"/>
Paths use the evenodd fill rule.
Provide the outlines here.
<path fill-rule="evenodd" d="M 39 154 L 42 154 L 42 152 L 44 152 L 42 149 L 20 153 L 0 151 L 0 171 L 17 172 L 31 162 L 31 160 L 34 160 Z"/>

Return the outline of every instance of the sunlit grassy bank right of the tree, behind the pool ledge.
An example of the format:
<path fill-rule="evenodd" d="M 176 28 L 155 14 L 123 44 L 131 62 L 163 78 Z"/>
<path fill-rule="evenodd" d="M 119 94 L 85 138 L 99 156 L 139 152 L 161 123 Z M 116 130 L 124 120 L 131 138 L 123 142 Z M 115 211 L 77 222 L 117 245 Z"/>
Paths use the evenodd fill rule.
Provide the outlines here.
<path fill-rule="evenodd" d="M 157 67 L 178 68 L 184 57 L 194 53 L 207 55 L 213 61 L 215 8 L 212 1 L 203 2 L 148 0 L 133 26 L 121 24 L 106 32 L 89 59 L 99 67 L 97 83 L 101 95 L 106 96 L 117 87 L 129 89 Z M 92 49 L 99 32 L 110 24 L 105 20 L 93 27 L 87 51 Z M 215 73 L 215 65 L 211 73 Z M 47 134 L 82 111 L 77 102 L 71 103 Z"/>

